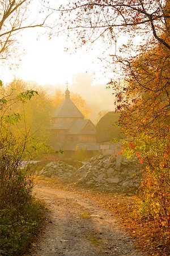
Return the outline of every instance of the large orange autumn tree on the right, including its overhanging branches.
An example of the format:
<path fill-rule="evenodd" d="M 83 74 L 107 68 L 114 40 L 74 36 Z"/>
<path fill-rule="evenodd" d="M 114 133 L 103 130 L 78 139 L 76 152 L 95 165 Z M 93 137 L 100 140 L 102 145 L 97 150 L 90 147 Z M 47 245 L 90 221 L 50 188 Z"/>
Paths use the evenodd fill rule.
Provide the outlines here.
<path fill-rule="evenodd" d="M 77 43 L 85 45 L 102 38 L 112 63 L 119 69 L 114 76 L 119 73 L 126 80 L 125 84 L 112 79 L 108 84 L 113 88 L 117 109 L 122 113 L 120 123 L 130 139 L 125 143 L 126 156 L 137 158 L 144 167 L 145 181 L 138 210 L 142 217 L 155 221 L 155 229 L 167 242 L 170 216 L 169 1 L 84 0 L 60 6 L 43 2 L 49 9 L 61 13 L 63 31 L 78 34 L 76 47 Z M 128 36 L 129 40 L 117 49 L 121 35 Z"/>

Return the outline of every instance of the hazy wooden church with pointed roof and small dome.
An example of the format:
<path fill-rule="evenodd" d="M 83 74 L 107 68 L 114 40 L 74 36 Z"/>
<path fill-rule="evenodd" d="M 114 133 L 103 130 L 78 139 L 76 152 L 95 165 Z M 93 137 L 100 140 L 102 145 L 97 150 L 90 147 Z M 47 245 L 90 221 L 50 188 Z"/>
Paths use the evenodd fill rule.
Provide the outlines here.
<path fill-rule="evenodd" d="M 87 151 L 98 151 L 96 143 L 96 127 L 70 99 L 68 88 L 65 100 L 52 115 L 50 126 L 54 150 L 75 151 L 77 148 Z"/>

